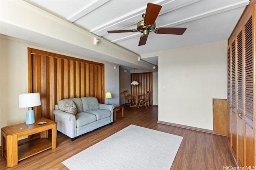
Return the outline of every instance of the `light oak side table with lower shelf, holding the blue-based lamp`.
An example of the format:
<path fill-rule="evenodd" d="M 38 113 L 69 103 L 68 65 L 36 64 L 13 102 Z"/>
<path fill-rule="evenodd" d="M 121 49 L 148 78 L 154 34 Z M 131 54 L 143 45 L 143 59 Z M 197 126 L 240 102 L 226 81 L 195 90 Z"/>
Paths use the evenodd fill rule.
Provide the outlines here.
<path fill-rule="evenodd" d="M 38 125 L 38 122 L 47 123 Z M 7 167 L 18 164 L 18 161 L 38 154 L 47 149 L 57 147 L 57 127 L 56 122 L 50 119 L 38 119 L 34 124 L 26 125 L 19 123 L 10 125 L 1 129 L 2 150 L 1 156 L 5 156 Z M 52 129 L 52 140 L 48 139 L 48 130 Z M 18 146 L 18 139 L 40 133 L 40 139 L 35 139 L 24 145 Z"/>

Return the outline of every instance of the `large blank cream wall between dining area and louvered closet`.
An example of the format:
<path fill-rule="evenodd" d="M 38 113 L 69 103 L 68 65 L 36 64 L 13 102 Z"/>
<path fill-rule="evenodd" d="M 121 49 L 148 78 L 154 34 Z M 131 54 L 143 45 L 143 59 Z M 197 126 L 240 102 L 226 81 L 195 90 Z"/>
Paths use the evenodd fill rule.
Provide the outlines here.
<path fill-rule="evenodd" d="M 160 121 L 213 130 L 212 99 L 227 98 L 226 51 L 221 41 L 159 53 Z"/>

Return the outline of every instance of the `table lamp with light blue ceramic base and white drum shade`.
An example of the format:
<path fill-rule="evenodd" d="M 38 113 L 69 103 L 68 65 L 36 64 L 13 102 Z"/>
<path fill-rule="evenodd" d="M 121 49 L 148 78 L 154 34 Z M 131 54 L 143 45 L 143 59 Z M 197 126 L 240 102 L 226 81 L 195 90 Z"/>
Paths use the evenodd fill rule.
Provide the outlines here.
<path fill-rule="evenodd" d="M 26 93 L 19 95 L 19 107 L 29 107 L 26 114 L 26 125 L 35 123 L 35 113 L 31 107 L 40 106 L 40 94 L 39 93 Z"/>

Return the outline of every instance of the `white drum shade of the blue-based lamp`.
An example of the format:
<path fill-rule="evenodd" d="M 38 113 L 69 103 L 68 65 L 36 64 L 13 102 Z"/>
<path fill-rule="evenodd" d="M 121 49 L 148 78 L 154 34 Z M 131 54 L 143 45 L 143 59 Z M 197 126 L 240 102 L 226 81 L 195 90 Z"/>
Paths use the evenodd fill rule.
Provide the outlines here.
<path fill-rule="evenodd" d="M 26 94 L 20 94 L 19 95 L 19 107 L 34 107 L 34 106 L 40 106 L 41 100 L 40 100 L 40 94 L 39 93 L 26 93 Z"/>

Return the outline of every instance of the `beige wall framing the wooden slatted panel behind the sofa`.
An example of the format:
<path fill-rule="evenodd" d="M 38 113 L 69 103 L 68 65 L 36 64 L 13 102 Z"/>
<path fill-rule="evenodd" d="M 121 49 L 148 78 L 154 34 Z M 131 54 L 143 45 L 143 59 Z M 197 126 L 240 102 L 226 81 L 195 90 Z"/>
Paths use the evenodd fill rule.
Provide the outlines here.
<path fill-rule="evenodd" d="M 26 120 L 26 108 L 19 108 L 18 96 L 28 92 L 27 49 L 35 48 L 52 53 L 77 57 L 105 64 L 105 92 L 116 98 L 112 103 L 119 104 L 119 71 L 116 64 L 90 59 L 85 56 L 46 49 L 19 39 L 0 35 L 0 127 L 22 123 Z M 117 66 L 117 69 L 114 69 Z M 111 75 L 111 76 L 110 76 Z M 116 88 L 114 88 L 116 84 Z M 107 102 L 107 100 L 105 100 Z"/>

